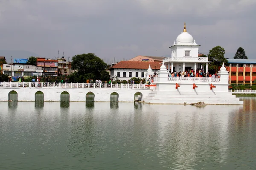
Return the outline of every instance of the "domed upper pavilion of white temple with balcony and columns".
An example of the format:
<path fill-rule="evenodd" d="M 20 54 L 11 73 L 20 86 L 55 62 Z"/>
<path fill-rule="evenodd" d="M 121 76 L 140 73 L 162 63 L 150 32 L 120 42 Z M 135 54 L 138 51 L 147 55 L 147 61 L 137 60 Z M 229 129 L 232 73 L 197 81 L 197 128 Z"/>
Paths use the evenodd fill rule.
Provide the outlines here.
<path fill-rule="evenodd" d="M 198 68 L 204 67 L 205 72 L 208 72 L 208 57 L 198 57 L 199 46 L 192 35 L 186 31 L 186 23 L 184 23 L 183 32 L 177 36 L 174 44 L 169 47 L 171 49 L 171 57 L 163 59 L 163 62 L 168 66 L 168 71 L 182 72 L 189 69 L 194 69 L 195 74 Z"/>

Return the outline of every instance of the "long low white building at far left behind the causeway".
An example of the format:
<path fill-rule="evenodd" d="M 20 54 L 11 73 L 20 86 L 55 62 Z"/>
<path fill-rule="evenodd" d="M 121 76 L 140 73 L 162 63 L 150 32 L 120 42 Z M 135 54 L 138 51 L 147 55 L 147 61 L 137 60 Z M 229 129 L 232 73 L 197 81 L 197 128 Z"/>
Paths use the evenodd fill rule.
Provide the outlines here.
<path fill-rule="evenodd" d="M 7 74 L 16 81 L 18 77 L 23 76 L 42 76 L 42 67 L 26 64 L 3 64 L 3 74 Z"/>

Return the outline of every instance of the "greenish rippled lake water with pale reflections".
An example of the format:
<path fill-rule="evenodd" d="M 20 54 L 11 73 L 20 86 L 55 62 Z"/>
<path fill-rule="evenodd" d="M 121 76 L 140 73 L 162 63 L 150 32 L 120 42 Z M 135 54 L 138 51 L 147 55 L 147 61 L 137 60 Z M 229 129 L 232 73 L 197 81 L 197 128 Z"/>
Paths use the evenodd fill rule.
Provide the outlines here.
<path fill-rule="evenodd" d="M 244 106 L 0 102 L 0 170 L 255 170 Z"/>

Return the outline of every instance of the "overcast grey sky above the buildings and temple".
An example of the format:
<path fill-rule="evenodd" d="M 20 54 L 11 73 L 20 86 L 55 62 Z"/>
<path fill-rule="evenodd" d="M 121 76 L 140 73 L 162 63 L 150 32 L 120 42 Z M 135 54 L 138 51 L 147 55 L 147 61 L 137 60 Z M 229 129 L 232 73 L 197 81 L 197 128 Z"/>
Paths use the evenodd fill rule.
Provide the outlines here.
<path fill-rule="evenodd" d="M 0 0 L 0 56 L 169 56 L 184 22 L 199 52 L 256 59 L 256 0 Z"/>

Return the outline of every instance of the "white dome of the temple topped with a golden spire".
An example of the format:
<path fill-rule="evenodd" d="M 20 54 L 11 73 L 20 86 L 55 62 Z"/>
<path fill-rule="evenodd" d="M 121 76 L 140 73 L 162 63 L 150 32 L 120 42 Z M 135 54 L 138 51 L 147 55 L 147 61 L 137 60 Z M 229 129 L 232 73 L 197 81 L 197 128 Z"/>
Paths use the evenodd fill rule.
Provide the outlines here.
<path fill-rule="evenodd" d="M 178 35 L 175 45 L 196 45 L 192 35 L 186 31 L 186 23 L 184 23 L 183 32 Z"/>

